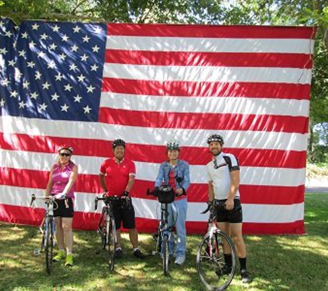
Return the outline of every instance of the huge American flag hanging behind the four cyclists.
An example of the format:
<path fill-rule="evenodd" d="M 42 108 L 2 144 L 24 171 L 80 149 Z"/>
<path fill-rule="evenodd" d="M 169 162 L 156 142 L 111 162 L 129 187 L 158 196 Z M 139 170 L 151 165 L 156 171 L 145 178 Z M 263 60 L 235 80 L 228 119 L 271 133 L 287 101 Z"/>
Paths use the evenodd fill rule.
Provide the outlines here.
<path fill-rule="evenodd" d="M 157 224 L 146 197 L 182 143 L 191 169 L 189 233 L 204 232 L 206 137 L 241 165 L 244 232 L 301 234 L 313 28 L 0 22 L 0 221 L 37 224 L 61 143 L 79 166 L 74 226 L 94 229 L 99 166 L 124 139 L 135 161 L 139 232 Z"/>

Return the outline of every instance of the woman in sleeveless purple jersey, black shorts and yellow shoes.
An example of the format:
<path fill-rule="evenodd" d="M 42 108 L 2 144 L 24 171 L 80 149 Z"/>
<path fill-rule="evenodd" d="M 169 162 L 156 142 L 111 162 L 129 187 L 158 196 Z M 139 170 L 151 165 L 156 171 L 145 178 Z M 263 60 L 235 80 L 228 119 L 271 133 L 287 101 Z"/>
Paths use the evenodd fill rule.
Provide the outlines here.
<path fill-rule="evenodd" d="M 73 148 L 61 145 L 58 150 L 59 159 L 52 165 L 46 188 L 46 197 L 55 196 L 54 217 L 56 225 L 56 239 L 58 254 L 53 261 L 65 259 L 65 265 L 73 265 L 73 229 L 74 215 L 74 184 L 77 179 L 77 165 L 70 160 Z"/>

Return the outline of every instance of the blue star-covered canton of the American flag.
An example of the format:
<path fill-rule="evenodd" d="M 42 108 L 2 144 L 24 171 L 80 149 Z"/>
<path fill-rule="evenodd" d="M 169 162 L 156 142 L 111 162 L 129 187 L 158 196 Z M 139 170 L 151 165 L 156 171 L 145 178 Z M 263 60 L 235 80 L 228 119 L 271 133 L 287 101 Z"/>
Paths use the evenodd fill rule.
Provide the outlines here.
<path fill-rule="evenodd" d="M 0 19 L 0 115 L 97 121 L 106 24 Z"/>

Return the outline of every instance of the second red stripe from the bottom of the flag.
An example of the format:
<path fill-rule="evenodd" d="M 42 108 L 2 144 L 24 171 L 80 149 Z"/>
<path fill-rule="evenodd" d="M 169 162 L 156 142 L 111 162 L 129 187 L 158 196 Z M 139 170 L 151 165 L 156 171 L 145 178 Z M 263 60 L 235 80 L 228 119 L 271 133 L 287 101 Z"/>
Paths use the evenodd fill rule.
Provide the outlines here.
<path fill-rule="evenodd" d="M 14 168 L 0 168 L 0 185 L 15 187 L 46 189 L 48 182 L 47 171 L 20 170 Z M 21 179 L 24 177 L 24 179 Z M 147 189 L 153 189 L 154 181 L 136 180 L 131 193 L 133 197 L 154 199 L 146 195 Z M 79 174 L 75 184 L 76 192 L 101 193 L 99 177 L 95 174 Z M 188 189 L 189 202 L 207 201 L 207 184 L 191 184 Z M 263 193 L 266 193 L 263 195 Z M 266 185 L 240 185 L 242 203 L 251 204 L 280 204 L 289 205 L 304 202 L 305 186 L 266 186 Z"/>

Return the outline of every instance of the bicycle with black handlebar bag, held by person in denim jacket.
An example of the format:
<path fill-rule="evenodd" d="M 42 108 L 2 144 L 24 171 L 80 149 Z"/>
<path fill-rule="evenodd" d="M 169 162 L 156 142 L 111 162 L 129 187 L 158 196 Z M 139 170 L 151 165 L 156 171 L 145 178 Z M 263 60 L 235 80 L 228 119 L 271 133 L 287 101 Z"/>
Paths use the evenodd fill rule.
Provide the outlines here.
<path fill-rule="evenodd" d="M 171 235 L 174 231 L 174 225 L 168 223 L 168 204 L 173 203 L 175 199 L 175 192 L 171 186 L 161 186 L 154 190 L 147 190 L 147 195 L 157 197 L 158 202 L 161 205 L 161 218 L 158 222 L 157 231 L 153 235 L 155 240 L 155 253 L 161 254 L 163 261 L 163 273 L 164 276 L 168 275 L 168 263 L 170 259 L 170 253 L 168 250 L 168 242 L 170 241 Z M 186 192 L 184 192 L 186 194 Z"/>

